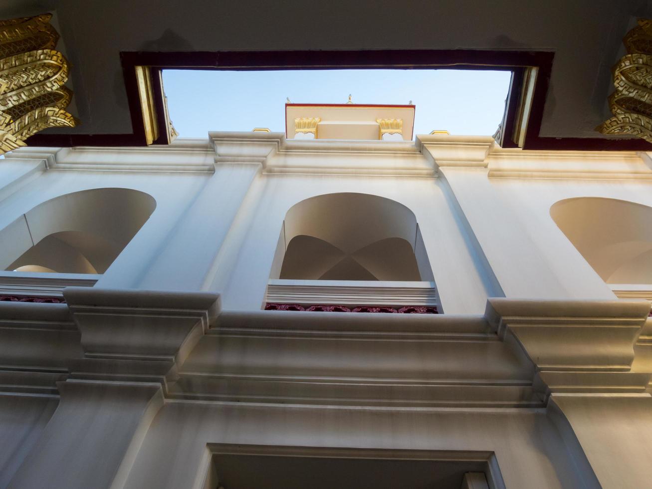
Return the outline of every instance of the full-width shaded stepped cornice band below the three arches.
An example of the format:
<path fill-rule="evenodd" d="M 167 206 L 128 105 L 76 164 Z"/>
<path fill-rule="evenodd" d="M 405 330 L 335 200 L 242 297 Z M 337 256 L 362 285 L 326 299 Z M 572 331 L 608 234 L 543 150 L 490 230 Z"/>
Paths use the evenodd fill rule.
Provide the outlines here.
<path fill-rule="evenodd" d="M 652 378 L 631 368 L 652 328 L 645 300 L 498 298 L 484 316 L 402 316 L 220 311 L 212 293 L 63 293 L 68 304 L 0 303 L 0 393 L 55 396 L 83 380 L 158 383 L 179 402 L 537 408 L 558 393 L 645 393 Z"/>

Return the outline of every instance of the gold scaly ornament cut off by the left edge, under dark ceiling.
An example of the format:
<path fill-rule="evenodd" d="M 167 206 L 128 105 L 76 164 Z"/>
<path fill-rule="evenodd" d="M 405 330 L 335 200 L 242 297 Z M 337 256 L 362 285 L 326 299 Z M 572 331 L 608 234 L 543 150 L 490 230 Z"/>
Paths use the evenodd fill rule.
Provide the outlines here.
<path fill-rule="evenodd" d="M 51 18 L 0 20 L 0 155 L 41 130 L 78 123 L 65 111 L 68 61 L 54 49 L 59 35 Z"/>

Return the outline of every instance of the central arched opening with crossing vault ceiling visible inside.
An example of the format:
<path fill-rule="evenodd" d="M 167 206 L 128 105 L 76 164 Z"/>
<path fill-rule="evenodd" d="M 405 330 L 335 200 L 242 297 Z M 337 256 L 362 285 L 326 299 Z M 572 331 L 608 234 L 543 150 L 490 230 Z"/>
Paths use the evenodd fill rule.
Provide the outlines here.
<path fill-rule="evenodd" d="M 271 278 L 433 280 L 414 213 L 391 199 L 348 192 L 288 210 Z"/>

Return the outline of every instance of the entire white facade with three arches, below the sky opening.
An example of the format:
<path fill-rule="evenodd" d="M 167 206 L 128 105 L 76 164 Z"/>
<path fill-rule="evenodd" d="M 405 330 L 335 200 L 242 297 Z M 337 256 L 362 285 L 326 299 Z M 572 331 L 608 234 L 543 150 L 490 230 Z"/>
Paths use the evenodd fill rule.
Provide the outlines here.
<path fill-rule="evenodd" d="M 649 486 L 647 153 L 211 132 L 0 177 L 0 487 Z"/>

